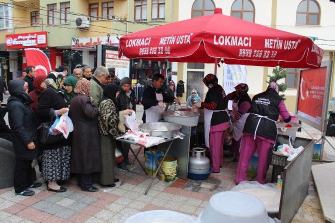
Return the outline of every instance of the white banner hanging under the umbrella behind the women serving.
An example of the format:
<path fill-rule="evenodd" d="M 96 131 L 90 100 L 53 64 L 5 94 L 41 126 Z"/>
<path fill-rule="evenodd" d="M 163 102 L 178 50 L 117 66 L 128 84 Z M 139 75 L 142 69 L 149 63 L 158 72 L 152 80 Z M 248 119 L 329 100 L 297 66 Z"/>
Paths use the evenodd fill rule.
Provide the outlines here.
<path fill-rule="evenodd" d="M 223 89 L 225 94 L 235 91 L 235 86 L 239 83 L 246 83 L 245 65 L 228 65 L 223 63 Z M 232 109 L 232 101 L 228 102 L 228 109 Z"/>

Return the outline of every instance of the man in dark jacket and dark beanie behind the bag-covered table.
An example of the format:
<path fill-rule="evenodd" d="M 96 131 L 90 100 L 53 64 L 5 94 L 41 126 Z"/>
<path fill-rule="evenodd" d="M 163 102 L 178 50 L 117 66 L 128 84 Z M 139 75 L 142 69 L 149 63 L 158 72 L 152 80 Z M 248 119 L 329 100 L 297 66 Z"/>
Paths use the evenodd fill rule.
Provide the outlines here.
<path fill-rule="evenodd" d="M 131 89 L 131 79 L 129 77 L 123 77 L 120 81 L 120 93 L 117 96 L 117 108 L 119 111 L 132 109 L 136 111 L 136 99 L 135 93 Z M 128 160 L 128 153 L 130 149 L 130 144 L 122 142 L 121 153 L 123 155 L 123 161 L 118 163 L 118 167 L 127 170 L 126 165 L 130 165 Z"/>

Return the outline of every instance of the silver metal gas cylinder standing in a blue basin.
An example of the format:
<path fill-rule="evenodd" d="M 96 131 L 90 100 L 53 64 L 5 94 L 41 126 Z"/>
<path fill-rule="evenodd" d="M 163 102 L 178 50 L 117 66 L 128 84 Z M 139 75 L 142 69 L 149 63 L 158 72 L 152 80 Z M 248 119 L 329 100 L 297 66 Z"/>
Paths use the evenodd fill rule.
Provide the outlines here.
<path fill-rule="evenodd" d="M 188 158 L 188 172 L 197 174 L 209 172 L 209 158 L 204 156 L 205 151 L 205 148 L 200 147 L 192 149 L 192 156 Z"/>

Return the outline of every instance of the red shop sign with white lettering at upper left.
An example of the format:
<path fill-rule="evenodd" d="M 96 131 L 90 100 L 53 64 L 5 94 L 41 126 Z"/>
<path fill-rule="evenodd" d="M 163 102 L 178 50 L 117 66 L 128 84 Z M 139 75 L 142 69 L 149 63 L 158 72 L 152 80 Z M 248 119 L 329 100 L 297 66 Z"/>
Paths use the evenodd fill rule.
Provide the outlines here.
<path fill-rule="evenodd" d="M 46 31 L 6 35 L 6 49 L 46 47 Z"/>

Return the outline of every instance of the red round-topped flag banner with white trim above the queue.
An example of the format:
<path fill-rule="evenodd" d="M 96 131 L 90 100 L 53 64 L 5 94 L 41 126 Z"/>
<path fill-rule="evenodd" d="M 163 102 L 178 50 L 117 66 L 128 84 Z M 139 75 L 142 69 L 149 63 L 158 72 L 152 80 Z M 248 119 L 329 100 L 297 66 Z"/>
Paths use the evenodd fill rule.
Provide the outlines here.
<path fill-rule="evenodd" d="M 37 48 L 24 49 L 25 59 L 28 66 L 34 66 L 36 74 L 47 73 L 51 70 L 50 61 L 45 53 Z"/>

